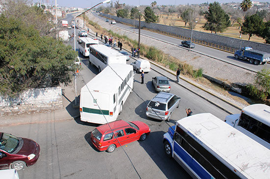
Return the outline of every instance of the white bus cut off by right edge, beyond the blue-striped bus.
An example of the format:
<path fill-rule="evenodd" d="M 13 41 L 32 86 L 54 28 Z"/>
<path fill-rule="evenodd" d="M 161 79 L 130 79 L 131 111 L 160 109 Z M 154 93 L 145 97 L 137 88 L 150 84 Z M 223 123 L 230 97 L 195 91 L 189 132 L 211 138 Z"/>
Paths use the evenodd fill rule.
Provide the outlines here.
<path fill-rule="evenodd" d="M 226 116 L 225 122 L 270 149 L 270 106 L 246 106 L 241 114 Z"/>

